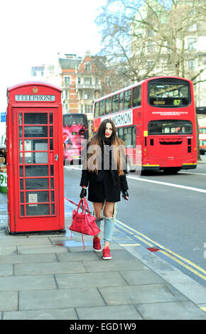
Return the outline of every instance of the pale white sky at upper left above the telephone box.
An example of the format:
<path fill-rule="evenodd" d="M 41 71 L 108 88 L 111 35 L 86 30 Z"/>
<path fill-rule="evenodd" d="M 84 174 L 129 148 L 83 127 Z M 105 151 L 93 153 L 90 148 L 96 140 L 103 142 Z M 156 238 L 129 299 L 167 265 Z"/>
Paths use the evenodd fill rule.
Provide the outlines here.
<path fill-rule="evenodd" d="M 0 4 L 0 112 L 6 90 L 31 81 L 31 66 L 65 53 L 83 57 L 100 50 L 95 18 L 107 0 L 6 0 Z"/>

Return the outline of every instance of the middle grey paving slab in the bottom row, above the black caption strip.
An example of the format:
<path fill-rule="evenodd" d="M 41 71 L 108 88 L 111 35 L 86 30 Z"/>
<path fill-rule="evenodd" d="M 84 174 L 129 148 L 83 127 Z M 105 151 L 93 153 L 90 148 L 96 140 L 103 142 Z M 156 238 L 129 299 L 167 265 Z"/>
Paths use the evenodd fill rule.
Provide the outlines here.
<path fill-rule="evenodd" d="M 80 320 L 141 320 L 134 305 L 77 308 Z"/>

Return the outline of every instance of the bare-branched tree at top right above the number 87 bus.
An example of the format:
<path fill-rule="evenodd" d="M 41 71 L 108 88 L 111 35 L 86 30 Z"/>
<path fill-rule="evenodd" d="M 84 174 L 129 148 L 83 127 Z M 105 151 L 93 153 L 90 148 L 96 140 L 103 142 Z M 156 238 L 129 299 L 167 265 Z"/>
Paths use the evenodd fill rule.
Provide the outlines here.
<path fill-rule="evenodd" d="M 123 84 L 167 74 L 200 82 L 205 53 L 197 53 L 195 43 L 205 14 L 205 0 L 107 0 L 96 20 L 102 28 L 100 54 Z"/>

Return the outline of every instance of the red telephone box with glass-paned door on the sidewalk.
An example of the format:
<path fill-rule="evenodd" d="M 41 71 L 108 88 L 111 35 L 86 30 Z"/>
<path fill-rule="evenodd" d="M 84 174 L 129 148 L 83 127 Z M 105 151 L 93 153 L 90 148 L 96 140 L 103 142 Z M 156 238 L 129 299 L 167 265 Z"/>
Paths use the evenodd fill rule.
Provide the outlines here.
<path fill-rule="evenodd" d="M 44 82 L 8 88 L 9 232 L 64 231 L 61 90 Z"/>

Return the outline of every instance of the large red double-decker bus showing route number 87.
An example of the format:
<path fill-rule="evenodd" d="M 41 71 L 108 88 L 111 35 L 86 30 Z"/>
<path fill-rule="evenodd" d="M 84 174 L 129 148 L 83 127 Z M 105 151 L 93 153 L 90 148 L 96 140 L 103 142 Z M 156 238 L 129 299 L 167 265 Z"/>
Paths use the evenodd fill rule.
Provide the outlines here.
<path fill-rule="evenodd" d="M 152 77 L 94 101 L 93 131 L 112 119 L 126 146 L 126 169 L 177 173 L 196 168 L 193 82 Z"/>

